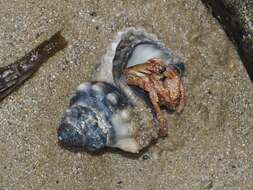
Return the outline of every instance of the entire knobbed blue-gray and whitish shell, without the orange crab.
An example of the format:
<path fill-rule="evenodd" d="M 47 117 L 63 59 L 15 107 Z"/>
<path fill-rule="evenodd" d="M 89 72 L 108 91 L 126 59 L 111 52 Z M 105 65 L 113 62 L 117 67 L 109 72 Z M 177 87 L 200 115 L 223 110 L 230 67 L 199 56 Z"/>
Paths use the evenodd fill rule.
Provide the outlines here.
<path fill-rule="evenodd" d="M 138 153 L 158 138 L 159 122 L 148 93 L 129 86 L 124 70 L 160 58 L 181 75 L 184 64 L 143 29 L 119 32 L 103 56 L 93 81 L 81 84 L 65 111 L 58 139 L 95 151 L 116 147 Z"/>

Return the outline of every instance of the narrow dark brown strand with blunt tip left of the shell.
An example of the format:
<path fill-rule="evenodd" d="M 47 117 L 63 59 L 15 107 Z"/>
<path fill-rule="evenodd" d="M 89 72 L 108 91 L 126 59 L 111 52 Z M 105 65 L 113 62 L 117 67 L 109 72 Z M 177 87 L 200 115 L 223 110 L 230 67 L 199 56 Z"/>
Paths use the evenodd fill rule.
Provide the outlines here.
<path fill-rule="evenodd" d="M 67 42 L 59 31 L 15 63 L 0 67 L 0 101 L 20 87 L 38 70 L 42 63 L 66 45 Z"/>

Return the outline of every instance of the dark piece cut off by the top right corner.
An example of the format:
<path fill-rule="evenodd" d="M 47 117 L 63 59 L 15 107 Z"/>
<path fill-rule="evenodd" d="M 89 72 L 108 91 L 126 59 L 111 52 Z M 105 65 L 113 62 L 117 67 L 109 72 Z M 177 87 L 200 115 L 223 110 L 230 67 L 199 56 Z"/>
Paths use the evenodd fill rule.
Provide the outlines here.
<path fill-rule="evenodd" d="M 253 1 L 202 0 L 237 46 L 253 82 Z"/>

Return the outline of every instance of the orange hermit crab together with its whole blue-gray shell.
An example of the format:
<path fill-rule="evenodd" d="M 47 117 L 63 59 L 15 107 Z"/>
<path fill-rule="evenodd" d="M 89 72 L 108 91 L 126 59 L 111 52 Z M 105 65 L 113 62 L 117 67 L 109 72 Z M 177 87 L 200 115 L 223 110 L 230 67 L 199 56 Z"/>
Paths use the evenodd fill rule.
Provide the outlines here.
<path fill-rule="evenodd" d="M 185 105 L 184 63 L 143 29 L 119 32 L 92 82 L 77 87 L 58 128 L 58 139 L 90 151 L 115 147 L 138 153 L 167 124 L 160 106 Z"/>

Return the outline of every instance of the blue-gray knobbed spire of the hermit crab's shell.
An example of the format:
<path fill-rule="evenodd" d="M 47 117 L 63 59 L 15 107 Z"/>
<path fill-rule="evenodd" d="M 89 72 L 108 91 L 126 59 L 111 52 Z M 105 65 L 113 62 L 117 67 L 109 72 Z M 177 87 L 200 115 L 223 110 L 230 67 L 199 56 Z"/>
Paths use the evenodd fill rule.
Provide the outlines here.
<path fill-rule="evenodd" d="M 70 98 L 58 129 L 58 139 L 91 151 L 113 144 L 112 116 L 128 106 L 131 107 L 131 103 L 115 86 L 106 82 L 83 83 Z"/>

